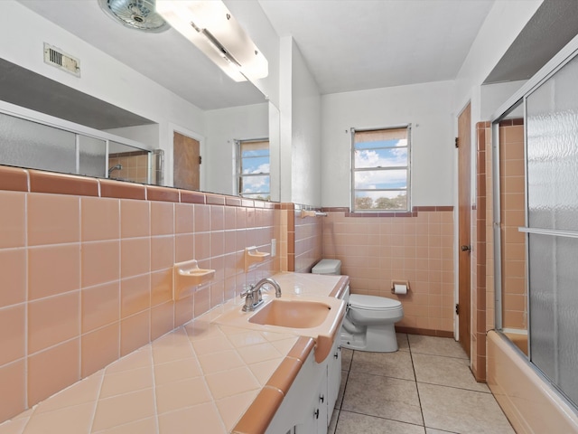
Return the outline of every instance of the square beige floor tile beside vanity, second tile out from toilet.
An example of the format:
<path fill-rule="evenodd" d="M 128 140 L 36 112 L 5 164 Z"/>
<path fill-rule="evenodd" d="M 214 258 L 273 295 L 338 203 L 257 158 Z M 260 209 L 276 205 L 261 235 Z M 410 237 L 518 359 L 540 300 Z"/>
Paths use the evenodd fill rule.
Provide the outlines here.
<path fill-rule="evenodd" d="M 417 425 L 424 423 L 415 382 L 381 375 L 351 372 L 341 410 Z"/>

